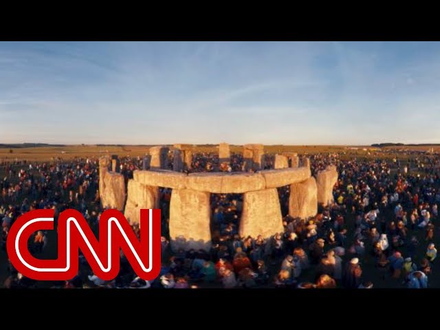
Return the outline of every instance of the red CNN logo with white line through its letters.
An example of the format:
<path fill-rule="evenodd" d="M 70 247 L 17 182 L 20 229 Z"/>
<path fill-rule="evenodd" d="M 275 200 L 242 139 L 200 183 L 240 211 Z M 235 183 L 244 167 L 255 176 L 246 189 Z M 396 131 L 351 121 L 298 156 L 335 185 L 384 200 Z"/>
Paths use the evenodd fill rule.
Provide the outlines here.
<path fill-rule="evenodd" d="M 37 281 L 67 281 L 78 273 L 81 249 L 94 274 L 111 281 L 120 271 L 120 250 L 134 272 L 145 281 L 159 276 L 161 268 L 160 210 L 140 210 L 140 240 L 118 210 L 105 210 L 99 219 L 99 241 L 77 210 L 58 217 L 58 258 L 36 259 L 28 249 L 30 236 L 38 230 L 54 229 L 54 210 L 23 214 L 10 228 L 6 248 L 18 272 Z"/>

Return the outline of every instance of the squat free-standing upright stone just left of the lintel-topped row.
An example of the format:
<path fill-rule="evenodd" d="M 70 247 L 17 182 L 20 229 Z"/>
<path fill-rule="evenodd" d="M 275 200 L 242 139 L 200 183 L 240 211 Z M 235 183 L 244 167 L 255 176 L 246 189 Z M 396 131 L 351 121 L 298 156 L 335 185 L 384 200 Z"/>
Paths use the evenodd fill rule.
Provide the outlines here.
<path fill-rule="evenodd" d="M 125 204 L 125 180 L 120 173 L 108 172 L 104 175 L 104 200 L 102 207 L 124 210 Z"/>

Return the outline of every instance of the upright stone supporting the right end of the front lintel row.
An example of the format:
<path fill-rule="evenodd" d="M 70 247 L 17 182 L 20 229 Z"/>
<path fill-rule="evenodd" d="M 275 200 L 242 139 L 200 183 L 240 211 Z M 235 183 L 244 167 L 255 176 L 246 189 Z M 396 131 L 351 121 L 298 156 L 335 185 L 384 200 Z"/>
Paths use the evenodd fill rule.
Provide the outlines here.
<path fill-rule="evenodd" d="M 314 177 L 290 185 L 289 215 L 307 219 L 318 213 L 318 188 Z"/>

